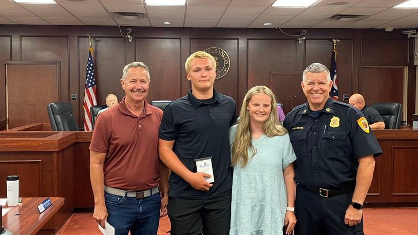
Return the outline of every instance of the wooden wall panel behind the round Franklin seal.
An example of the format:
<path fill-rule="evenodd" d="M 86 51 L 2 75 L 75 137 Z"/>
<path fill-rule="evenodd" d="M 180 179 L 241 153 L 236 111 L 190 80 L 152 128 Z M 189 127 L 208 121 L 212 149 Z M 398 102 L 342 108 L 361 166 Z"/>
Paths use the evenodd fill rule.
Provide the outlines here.
<path fill-rule="evenodd" d="M 238 40 L 234 39 L 197 39 L 190 41 L 191 53 L 195 51 L 204 51 L 210 47 L 218 47 L 224 50 L 230 57 L 230 69 L 220 79 L 215 80 L 215 89 L 225 95 L 231 96 L 240 106 L 238 102 Z"/>

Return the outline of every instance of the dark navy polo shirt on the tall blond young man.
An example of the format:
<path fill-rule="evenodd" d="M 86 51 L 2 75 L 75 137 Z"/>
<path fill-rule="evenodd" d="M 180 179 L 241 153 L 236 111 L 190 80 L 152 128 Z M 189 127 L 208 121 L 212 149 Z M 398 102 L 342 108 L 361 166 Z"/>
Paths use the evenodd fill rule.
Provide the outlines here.
<path fill-rule="evenodd" d="M 192 172 L 197 172 L 195 159 L 212 156 L 216 182 L 209 191 L 200 191 L 172 172 L 170 197 L 215 199 L 231 194 L 229 128 L 236 121 L 235 102 L 215 89 L 213 93 L 210 101 L 201 101 L 189 90 L 186 96 L 168 104 L 164 110 L 159 138 L 175 141 L 173 151 Z"/>

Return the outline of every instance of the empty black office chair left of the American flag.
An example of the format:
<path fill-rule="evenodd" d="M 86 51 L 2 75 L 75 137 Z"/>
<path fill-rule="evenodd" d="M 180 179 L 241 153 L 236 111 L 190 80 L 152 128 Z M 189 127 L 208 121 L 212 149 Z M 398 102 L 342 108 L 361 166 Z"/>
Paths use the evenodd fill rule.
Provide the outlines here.
<path fill-rule="evenodd" d="M 53 131 L 79 130 L 70 103 L 56 102 L 47 105 L 49 122 Z"/>

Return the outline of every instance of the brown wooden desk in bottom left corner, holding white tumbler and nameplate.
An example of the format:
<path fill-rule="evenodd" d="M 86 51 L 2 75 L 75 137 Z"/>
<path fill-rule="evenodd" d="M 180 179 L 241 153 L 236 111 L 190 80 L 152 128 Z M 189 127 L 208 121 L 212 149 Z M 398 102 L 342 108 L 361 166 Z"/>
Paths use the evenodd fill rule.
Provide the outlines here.
<path fill-rule="evenodd" d="M 3 217 L 3 226 L 13 235 L 35 234 L 64 205 L 63 198 L 49 198 L 52 205 L 40 214 L 36 206 L 45 199 L 47 198 L 23 198 L 18 206 L 7 207 L 6 204 L 3 208 L 10 210 Z"/>

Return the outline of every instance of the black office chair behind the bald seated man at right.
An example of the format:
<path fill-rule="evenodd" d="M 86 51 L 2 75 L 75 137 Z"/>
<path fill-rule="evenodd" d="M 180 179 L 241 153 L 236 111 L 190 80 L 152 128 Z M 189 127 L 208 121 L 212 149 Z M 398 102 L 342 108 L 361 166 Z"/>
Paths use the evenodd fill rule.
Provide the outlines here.
<path fill-rule="evenodd" d="M 374 103 L 373 107 L 381 114 L 385 122 L 385 129 L 399 129 L 402 121 L 402 104 L 399 103 Z"/>

